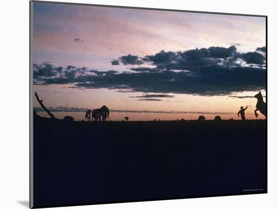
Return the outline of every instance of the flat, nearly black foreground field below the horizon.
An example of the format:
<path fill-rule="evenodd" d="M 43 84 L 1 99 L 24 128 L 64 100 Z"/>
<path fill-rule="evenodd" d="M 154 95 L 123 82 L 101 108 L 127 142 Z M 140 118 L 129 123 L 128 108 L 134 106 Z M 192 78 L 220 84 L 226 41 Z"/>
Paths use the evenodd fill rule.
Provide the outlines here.
<path fill-rule="evenodd" d="M 34 205 L 266 192 L 265 121 L 34 120 Z"/>

